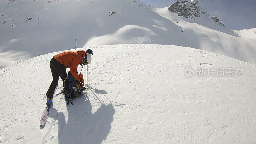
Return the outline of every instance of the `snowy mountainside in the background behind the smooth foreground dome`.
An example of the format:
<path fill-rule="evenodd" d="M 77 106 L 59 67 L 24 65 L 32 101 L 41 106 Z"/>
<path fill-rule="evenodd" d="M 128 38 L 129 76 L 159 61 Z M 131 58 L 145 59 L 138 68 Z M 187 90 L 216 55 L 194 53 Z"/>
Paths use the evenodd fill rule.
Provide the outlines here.
<path fill-rule="evenodd" d="M 0 68 L 74 48 L 75 38 L 79 48 L 170 44 L 256 64 L 255 39 L 221 26 L 207 15 L 180 17 L 168 7 L 154 8 L 138 0 L 2 0 L 0 22 Z M 255 33 L 250 35 L 255 37 Z"/>

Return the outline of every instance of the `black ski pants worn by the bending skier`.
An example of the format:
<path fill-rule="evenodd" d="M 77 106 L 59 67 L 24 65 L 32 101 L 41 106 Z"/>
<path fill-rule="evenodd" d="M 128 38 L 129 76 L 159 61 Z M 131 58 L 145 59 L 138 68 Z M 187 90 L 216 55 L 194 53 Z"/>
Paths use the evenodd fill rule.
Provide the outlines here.
<path fill-rule="evenodd" d="M 62 79 L 63 83 L 65 78 L 67 77 L 66 68 L 63 64 L 61 64 L 58 60 L 52 57 L 52 60 L 50 61 L 50 68 L 52 71 L 52 83 L 46 93 L 47 98 L 52 99 L 53 94 L 55 92 L 55 88 L 59 81 L 59 76 Z"/>

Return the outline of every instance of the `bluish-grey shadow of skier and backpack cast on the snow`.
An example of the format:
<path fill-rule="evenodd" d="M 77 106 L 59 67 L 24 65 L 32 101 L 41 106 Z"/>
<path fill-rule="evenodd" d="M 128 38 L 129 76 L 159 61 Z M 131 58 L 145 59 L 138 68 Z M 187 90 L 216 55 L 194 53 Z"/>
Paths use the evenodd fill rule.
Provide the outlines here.
<path fill-rule="evenodd" d="M 103 103 L 96 112 L 92 113 L 92 105 L 86 92 L 73 99 L 73 104 L 66 105 L 67 123 L 64 114 L 58 113 L 59 143 L 100 144 L 110 132 L 115 113 L 113 105 L 110 103 L 106 106 Z"/>

